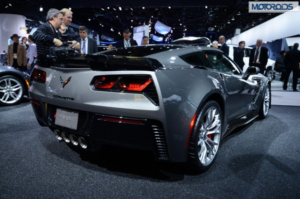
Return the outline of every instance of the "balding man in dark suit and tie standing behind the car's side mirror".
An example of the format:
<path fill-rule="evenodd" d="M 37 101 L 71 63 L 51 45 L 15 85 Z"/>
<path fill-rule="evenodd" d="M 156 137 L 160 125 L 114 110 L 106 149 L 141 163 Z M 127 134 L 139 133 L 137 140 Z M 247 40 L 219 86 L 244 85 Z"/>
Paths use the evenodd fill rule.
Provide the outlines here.
<path fill-rule="evenodd" d="M 264 74 L 265 66 L 267 63 L 268 55 L 267 55 L 267 47 L 261 46 L 262 39 L 256 40 L 256 47 L 252 48 L 250 51 L 249 57 L 249 66 L 258 67 L 261 74 Z"/>

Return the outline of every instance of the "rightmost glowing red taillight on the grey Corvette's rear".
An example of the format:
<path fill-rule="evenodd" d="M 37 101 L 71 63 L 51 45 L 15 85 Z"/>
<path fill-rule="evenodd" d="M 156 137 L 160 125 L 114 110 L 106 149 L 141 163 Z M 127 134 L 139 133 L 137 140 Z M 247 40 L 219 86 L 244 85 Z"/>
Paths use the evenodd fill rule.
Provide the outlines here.
<path fill-rule="evenodd" d="M 124 76 L 118 83 L 119 90 L 142 91 L 152 80 L 149 76 Z"/>

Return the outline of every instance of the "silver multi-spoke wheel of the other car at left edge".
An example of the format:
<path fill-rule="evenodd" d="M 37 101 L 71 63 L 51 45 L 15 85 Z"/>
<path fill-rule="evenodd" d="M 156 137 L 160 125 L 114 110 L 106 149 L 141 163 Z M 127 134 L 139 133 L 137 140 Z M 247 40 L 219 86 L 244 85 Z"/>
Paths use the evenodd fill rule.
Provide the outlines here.
<path fill-rule="evenodd" d="M 0 104 L 4 106 L 19 103 L 24 96 L 24 85 L 14 76 L 0 77 Z"/>

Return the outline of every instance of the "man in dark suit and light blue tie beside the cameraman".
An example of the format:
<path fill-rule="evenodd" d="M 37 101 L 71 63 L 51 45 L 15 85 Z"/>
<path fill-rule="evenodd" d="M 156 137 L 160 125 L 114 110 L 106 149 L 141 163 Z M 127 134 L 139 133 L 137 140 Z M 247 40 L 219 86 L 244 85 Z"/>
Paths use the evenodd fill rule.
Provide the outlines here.
<path fill-rule="evenodd" d="M 77 42 L 80 43 L 80 54 L 93 54 L 98 52 L 96 40 L 87 37 L 87 27 L 84 25 L 79 26 L 79 35 L 80 38 L 77 39 Z"/>

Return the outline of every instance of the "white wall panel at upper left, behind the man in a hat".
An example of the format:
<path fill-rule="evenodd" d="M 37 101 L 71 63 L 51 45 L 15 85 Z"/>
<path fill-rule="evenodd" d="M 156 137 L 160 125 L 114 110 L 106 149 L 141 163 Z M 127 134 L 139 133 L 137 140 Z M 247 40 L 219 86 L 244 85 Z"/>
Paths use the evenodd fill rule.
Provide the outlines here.
<path fill-rule="evenodd" d="M 26 36 L 25 17 L 18 14 L 0 14 L 0 53 L 7 52 L 8 42 L 12 34 Z"/>

